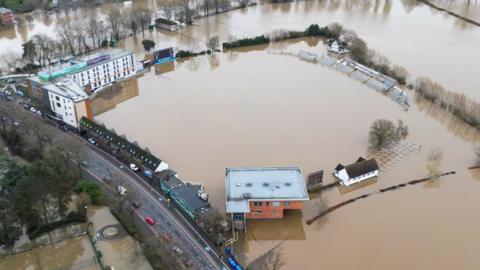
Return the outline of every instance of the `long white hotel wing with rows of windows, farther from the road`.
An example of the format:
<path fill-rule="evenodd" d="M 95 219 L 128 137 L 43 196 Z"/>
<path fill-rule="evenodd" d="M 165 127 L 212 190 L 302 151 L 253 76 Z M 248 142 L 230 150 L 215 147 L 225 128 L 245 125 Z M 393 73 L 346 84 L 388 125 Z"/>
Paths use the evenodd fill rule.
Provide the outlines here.
<path fill-rule="evenodd" d="M 135 74 L 135 55 L 132 52 L 112 49 L 75 59 L 85 66 L 67 75 L 78 85 L 89 86 L 91 91 Z"/>

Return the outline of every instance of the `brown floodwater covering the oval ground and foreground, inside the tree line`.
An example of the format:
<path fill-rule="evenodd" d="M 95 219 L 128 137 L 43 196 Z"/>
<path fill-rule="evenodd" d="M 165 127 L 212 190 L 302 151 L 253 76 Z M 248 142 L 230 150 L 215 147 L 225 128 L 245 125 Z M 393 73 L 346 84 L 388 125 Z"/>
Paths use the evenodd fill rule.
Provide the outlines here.
<path fill-rule="evenodd" d="M 339 72 L 269 53 L 280 48 L 324 52 L 321 41 L 308 39 L 177 61 L 173 72 L 152 69 L 138 78 L 138 96 L 97 119 L 148 146 L 183 179 L 205 183 L 221 210 L 226 167 L 293 165 L 305 175 L 325 169 L 331 182 L 339 162 L 367 154 L 373 121 L 402 119 L 420 153 L 375 184 L 345 195 L 337 189 L 311 194 L 302 212 L 251 222 L 235 250 L 249 262 L 281 243 L 285 269 L 476 269 L 480 182 L 466 168 L 475 162 L 472 145 L 480 134 L 422 100 L 404 112 Z M 325 205 L 427 176 L 428 152 L 437 147 L 441 169 L 456 175 L 305 224 Z"/>

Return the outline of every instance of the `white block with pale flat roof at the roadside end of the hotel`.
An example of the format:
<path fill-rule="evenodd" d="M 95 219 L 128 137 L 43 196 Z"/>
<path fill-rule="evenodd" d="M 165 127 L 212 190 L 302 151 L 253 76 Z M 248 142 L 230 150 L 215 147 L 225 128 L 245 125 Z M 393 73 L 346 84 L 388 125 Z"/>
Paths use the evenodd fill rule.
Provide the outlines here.
<path fill-rule="evenodd" d="M 75 82 L 63 79 L 43 86 L 47 92 L 50 110 L 65 124 L 78 128 L 80 119 L 89 117 L 89 97 Z"/>

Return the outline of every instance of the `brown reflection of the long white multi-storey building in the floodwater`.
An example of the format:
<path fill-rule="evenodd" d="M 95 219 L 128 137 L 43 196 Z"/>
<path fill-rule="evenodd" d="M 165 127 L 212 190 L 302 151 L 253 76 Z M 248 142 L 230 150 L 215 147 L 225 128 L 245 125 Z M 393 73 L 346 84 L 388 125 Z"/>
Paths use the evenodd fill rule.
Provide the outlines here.
<path fill-rule="evenodd" d="M 92 98 L 92 112 L 97 116 L 131 98 L 138 96 L 138 78 L 115 83 L 95 93 Z"/>

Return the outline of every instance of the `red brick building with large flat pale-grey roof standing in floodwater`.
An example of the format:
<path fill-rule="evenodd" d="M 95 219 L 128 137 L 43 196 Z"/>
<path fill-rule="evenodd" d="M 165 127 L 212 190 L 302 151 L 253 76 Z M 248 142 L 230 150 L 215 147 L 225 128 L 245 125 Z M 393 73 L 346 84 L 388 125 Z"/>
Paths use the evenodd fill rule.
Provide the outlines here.
<path fill-rule="evenodd" d="M 245 229 L 247 219 L 283 218 L 284 210 L 302 209 L 308 201 L 299 168 L 227 168 L 225 190 L 236 229 Z"/>

